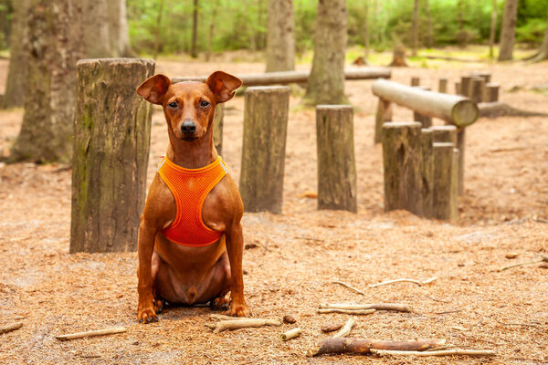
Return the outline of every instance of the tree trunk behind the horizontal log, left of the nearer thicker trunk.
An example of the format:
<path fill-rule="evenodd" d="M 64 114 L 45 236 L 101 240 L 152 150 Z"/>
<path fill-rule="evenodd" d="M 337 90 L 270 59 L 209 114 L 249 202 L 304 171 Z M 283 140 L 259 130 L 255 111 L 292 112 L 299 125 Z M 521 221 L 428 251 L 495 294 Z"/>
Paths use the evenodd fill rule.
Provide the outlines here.
<path fill-rule="evenodd" d="M 295 69 L 293 0 L 269 0 L 267 72 Z"/>

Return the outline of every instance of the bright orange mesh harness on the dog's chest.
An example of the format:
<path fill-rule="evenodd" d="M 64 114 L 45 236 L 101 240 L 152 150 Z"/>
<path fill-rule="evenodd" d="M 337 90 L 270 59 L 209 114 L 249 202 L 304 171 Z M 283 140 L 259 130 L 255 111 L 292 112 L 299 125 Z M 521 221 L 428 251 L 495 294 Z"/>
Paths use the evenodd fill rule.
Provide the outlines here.
<path fill-rule="evenodd" d="M 174 194 L 177 206 L 174 223 L 163 229 L 162 234 L 179 245 L 198 247 L 218 241 L 221 232 L 204 224 L 202 206 L 207 194 L 227 174 L 225 162 L 218 157 L 215 162 L 200 169 L 184 169 L 165 156 L 158 172 Z"/>

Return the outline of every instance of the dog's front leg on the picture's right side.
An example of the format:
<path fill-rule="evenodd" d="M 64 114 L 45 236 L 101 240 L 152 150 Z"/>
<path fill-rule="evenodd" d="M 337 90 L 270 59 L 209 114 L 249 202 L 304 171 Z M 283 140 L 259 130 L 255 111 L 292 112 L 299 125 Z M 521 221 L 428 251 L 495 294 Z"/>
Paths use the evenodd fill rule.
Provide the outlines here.
<path fill-rule="evenodd" d="M 244 274 L 242 269 L 242 256 L 244 252 L 244 235 L 242 225 L 238 222 L 228 227 L 227 253 L 230 261 L 230 273 L 232 276 L 230 308 L 231 316 L 248 317 L 248 305 L 244 298 Z"/>

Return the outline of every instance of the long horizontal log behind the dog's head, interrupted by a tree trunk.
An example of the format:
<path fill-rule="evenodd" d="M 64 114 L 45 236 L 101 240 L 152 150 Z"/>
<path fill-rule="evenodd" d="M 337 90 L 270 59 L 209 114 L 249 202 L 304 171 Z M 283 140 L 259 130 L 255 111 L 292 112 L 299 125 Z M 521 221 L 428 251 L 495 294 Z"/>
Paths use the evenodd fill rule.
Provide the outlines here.
<path fill-rule="evenodd" d="M 306 83 L 310 74 L 310 71 L 298 70 L 268 72 L 263 74 L 240 74 L 236 76 L 237 78 L 242 80 L 244 87 L 251 87 Z M 392 71 L 390 70 L 390 68 L 346 68 L 344 70 L 344 78 L 347 80 L 391 78 L 391 76 Z M 207 76 L 191 76 L 172 78 L 172 82 L 204 82 L 205 79 L 207 79 Z"/>

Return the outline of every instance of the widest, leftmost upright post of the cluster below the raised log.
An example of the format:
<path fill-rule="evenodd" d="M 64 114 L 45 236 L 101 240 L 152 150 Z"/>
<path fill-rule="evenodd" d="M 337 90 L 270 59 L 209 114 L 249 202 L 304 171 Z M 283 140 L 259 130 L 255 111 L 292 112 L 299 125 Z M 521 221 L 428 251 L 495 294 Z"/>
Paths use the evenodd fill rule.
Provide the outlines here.
<path fill-rule="evenodd" d="M 406 209 L 422 215 L 421 124 L 388 122 L 383 125 L 385 211 Z"/>

